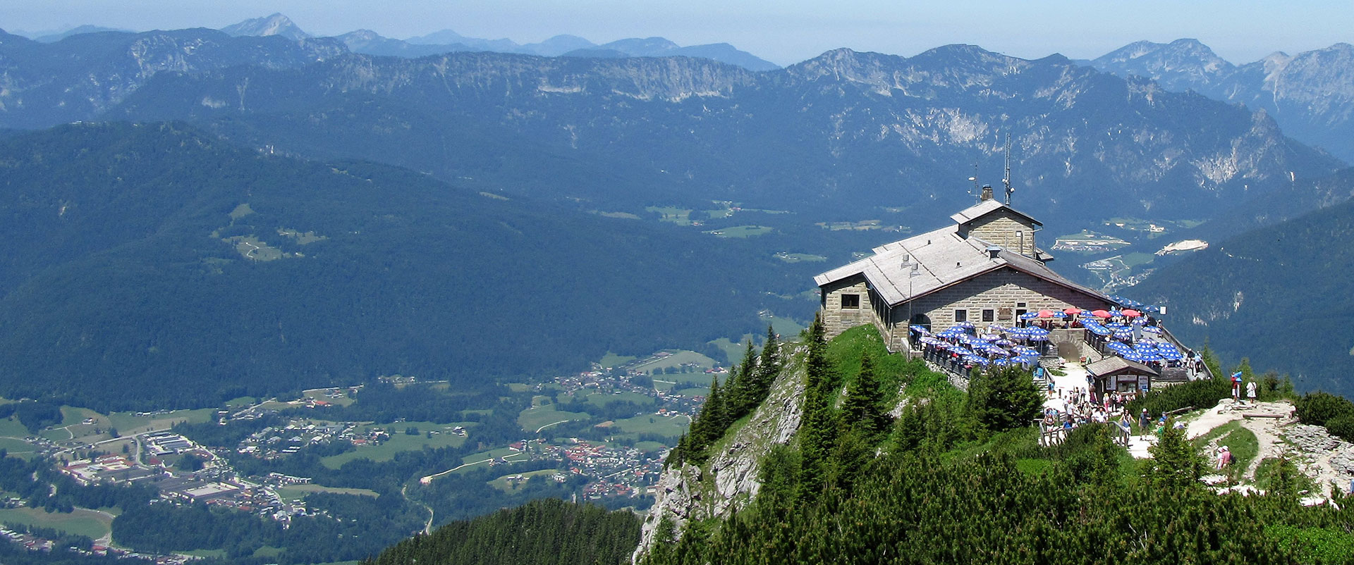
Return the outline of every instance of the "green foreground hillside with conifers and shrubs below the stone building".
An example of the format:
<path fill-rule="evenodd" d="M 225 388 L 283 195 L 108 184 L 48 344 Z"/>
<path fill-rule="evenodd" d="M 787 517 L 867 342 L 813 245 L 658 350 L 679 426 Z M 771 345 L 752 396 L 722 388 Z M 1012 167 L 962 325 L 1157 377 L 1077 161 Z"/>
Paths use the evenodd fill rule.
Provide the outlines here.
<path fill-rule="evenodd" d="M 1204 460 L 1171 426 L 1148 460 L 1133 460 L 1106 424 L 1083 424 L 1044 447 L 1029 426 L 1043 395 L 1028 372 L 975 373 L 965 393 L 919 362 L 888 360 L 873 327 L 831 343 L 814 335 L 798 349 L 803 362 L 787 365 L 803 369 L 777 380 L 785 388 L 804 384 L 802 423 L 761 461 L 751 503 L 737 514 L 692 514 L 678 526 L 673 514 L 722 496 L 714 487 L 719 478 L 707 478 L 716 473 L 714 464 L 697 472 L 691 464 L 705 464 L 688 456 L 680 474 L 691 478 L 676 489 L 691 488 L 682 500 L 692 503 L 662 515 L 640 564 L 1335 564 L 1354 557 L 1351 510 L 1340 489 L 1336 504 L 1300 506 L 1292 462 L 1275 460 L 1284 470 L 1269 491 L 1243 496 L 1200 481 Z M 906 385 L 902 415 L 883 430 L 871 424 L 875 416 L 865 418 L 869 403 L 858 400 L 887 400 L 862 392 L 879 391 L 864 385 L 867 374 Z M 781 404 L 764 404 L 753 419 L 768 416 L 761 410 L 785 414 Z M 712 416 L 701 412 L 701 419 Z M 747 424 L 733 422 L 724 441 Z M 697 419 L 692 438 L 700 427 Z"/>

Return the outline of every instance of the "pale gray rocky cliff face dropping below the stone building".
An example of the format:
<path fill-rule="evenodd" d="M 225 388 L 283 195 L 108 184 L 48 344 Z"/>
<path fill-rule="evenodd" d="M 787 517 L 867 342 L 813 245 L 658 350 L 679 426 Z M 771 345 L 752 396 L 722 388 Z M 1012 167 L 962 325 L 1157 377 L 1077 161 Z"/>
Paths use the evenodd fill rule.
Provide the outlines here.
<path fill-rule="evenodd" d="M 803 347 L 785 353 L 788 362 L 770 395 L 746 424 L 712 447 L 719 451 L 705 465 L 685 464 L 663 470 L 657 500 L 645 518 L 636 561 L 665 535 L 661 529 L 665 522 L 680 535 L 688 522 L 728 516 L 757 496 L 762 460 L 774 445 L 789 442 L 803 416 Z"/>

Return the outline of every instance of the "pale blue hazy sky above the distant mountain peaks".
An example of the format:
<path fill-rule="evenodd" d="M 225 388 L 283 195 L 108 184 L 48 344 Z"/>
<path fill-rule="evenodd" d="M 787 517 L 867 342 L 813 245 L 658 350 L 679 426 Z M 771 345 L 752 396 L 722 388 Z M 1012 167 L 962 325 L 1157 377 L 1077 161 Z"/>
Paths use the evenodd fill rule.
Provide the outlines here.
<path fill-rule="evenodd" d="M 661 35 L 678 45 L 728 42 L 780 65 L 835 47 L 914 55 L 948 43 L 1094 58 L 1139 39 L 1179 38 L 1244 64 L 1354 42 L 1350 0 L 0 0 L 0 28 L 223 27 L 274 12 L 315 35 L 368 28 L 403 39 L 450 28 L 519 43 Z"/>

